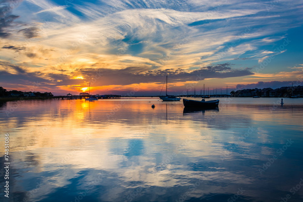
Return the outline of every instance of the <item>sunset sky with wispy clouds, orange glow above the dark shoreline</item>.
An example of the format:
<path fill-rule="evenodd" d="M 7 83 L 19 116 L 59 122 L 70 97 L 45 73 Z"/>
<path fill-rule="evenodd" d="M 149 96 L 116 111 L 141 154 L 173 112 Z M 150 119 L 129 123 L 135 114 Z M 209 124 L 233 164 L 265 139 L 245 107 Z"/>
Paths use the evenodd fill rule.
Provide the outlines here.
<path fill-rule="evenodd" d="M 303 85 L 303 1 L 1 0 L 0 86 L 159 95 Z M 165 86 L 164 86 L 165 91 Z M 191 94 L 191 93 L 189 93 Z M 162 90 L 163 95 L 163 90 Z"/>

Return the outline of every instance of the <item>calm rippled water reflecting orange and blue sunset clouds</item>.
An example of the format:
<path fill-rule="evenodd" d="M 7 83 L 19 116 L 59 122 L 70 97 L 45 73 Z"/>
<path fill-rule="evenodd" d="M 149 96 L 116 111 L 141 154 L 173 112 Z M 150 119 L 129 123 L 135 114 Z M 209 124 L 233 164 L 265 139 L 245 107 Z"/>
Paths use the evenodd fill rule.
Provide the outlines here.
<path fill-rule="evenodd" d="M 0 199 L 302 201 L 303 99 L 280 101 L 220 98 L 202 111 L 158 98 L 2 103 L 11 164 L 6 198 L 1 157 Z"/>

